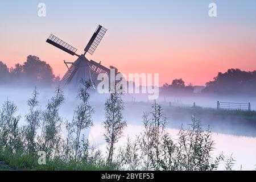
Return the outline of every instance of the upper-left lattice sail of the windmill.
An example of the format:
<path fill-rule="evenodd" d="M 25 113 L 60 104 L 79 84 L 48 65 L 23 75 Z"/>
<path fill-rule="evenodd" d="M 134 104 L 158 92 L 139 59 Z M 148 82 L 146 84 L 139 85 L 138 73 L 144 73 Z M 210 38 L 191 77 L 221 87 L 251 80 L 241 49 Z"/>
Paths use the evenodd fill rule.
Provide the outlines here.
<path fill-rule="evenodd" d="M 63 40 L 57 38 L 54 35 L 50 35 L 49 38 L 46 40 L 47 43 L 52 44 L 52 46 L 55 46 L 57 48 L 60 48 L 61 50 L 71 54 L 71 55 L 76 55 L 76 51 L 77 49 L 71 45 L 69 45 L 68 43 L 65 43 Z"/>

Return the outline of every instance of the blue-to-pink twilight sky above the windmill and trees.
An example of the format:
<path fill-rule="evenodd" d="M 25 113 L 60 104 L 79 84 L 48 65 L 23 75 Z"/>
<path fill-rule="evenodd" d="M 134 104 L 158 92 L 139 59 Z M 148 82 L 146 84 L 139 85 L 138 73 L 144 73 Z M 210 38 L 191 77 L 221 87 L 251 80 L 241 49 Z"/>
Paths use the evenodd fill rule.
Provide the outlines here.
<path fill-rule="evenodd" d="M 46 17 L 38 16 L 39 3 Z M 161 85 L 175 78 L 205 85 L 229 68 L 256 70 L 255 0 L 0 0 L 0 60 L 13 67 L 35 55 L 62 77 L 63 60 L 76 57 L 46 43 L 48 36 L 81 54 L 98 24 L 108 32 L 88 59 L 127 75 L 159 73 Z"/>

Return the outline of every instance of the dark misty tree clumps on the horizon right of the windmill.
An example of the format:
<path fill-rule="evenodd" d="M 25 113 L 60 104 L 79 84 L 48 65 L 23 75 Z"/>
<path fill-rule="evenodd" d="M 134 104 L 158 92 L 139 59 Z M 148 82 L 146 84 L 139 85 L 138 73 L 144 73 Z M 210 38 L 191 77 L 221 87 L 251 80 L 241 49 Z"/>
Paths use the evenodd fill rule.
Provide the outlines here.
<path fill-rule="evenodd" d="M 225 73 L 219 72 L 213 81 L 205 84 L 201 94 L 221 95 L 251 95 L 256 94 L 256 71 L 241 71 L 241 69 L 228 69 Z M 161 94 L 193 94 L 192 84 L 185 85 L 182 78 L 175 79 L 172 84 L 164 84 L 160 88 Z"/>

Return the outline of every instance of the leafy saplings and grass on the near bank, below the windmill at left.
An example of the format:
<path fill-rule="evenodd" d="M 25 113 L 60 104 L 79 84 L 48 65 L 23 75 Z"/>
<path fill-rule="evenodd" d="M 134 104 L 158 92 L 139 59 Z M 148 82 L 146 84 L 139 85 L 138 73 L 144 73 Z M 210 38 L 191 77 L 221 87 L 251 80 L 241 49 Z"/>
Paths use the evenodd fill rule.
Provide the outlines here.
<path fill-rule="evenodd" d="M 77 144 L 76 131 L 92 126 L 91 114 L 93 108 L 89 105 L 90 84 L 84 82 L 79 90 L 81 104 L 77 106 L 71 123 L 65 122 L 67 138 L 61 137 L 60 128 L 63 124 L 59 109 L 64 101 L 63 91 L 58 88 L 55 96 L 48 102 L 47 108 L 40 111 L 38 107 L 38 92 L 36 89 L 28 100 L 29 113 L 26 114 L 26 126 L 19 128 L 20 116 L 15 115 L 16 106 L 6 101 L 0 111 L 0 169 L 30 169 L 30 170 L 113 170 L 112 165 L 106 165 L 100 150 L 91 147 L 88 139 L 82 135 Z M 41 134 L 37 129 L 41 126 Z M 80 137 L 80 134 L 78 135 Z M 47 164 L 39 165 L 39 151 L 45 151 Z M 4 165 L 2 164 L 4 163 Z M 8 168 L 6 168 L 8 166 Z"/>

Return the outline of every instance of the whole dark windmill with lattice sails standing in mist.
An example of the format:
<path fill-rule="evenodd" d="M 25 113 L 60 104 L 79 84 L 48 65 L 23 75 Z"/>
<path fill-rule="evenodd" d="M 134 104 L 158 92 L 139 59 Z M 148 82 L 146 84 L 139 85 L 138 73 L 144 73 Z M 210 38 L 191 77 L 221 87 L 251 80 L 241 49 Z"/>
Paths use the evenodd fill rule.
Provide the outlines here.
<path fill-rule="evenodd" d="M 107 73 L 109 75 L 110 69 L 101 65 L 101 63 L 96 63 L 93 60 L 86 59 L 86 53 L 90 53 L 93 55 L 93 52 L 97 48 L 98 44 L 100 44 L 101 39 L 106 33 L 106 28 L 102 26 L 98 26 L 96 31 L 94 32 L 92 38 L 84 49 L 84 53 L 82 55 L 77 55 L 77 49 L 75 47 L 70 46 L 65 43 L 63 40 L 60 40 L 54 35 L 50 35 L 46 40 L 49 44 L 60 48 L 61 50 L 71 54 L 76 55 L 79 58 L 74 63 L 65 62 L 65 65 L 68 67 L 68 64 L 71 64 L 71 67 L 68 67 L 68 71 L 65 73 L 64 77 L 61 79 L 61 85 L 68 86 L 69 88 L 78 88 L 80 85 L 81 78 L 84 80 L 90 79 L 95 85 L 97 85 L 97 76 L 100 73 Z"/>

